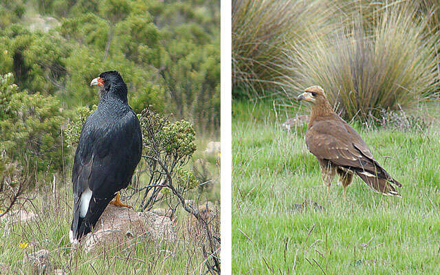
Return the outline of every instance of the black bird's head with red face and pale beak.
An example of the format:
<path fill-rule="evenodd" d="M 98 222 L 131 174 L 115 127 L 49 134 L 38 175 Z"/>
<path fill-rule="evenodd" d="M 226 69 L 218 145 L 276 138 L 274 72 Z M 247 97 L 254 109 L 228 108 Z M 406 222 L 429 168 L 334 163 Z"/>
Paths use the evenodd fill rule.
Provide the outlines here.
<path fill-rule="evenodd" d="M 90 86 L 97 85 L 101 94 L 115 94 L 122 99 L 126 98 L 126 85 L 118 71 L 107 71 L 99 74 L 97 78 L 91 80 Z"/>

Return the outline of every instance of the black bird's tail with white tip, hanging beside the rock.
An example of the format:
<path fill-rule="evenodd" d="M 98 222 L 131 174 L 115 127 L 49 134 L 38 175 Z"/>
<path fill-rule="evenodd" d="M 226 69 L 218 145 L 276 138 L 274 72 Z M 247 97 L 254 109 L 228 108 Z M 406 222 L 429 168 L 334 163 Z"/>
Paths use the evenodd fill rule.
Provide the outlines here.
<path fill-rule="evenodd" d="M 83 236 L 91 232 L 113 197 L 114 196 L 105 199 L 91 197 L 89 209 L 84 218 L 79 217 L 79 209 L 76 205 L 74 206 L 74 219 L 72 220 L 69 234 L 71 243 L 79 241 Z"/>

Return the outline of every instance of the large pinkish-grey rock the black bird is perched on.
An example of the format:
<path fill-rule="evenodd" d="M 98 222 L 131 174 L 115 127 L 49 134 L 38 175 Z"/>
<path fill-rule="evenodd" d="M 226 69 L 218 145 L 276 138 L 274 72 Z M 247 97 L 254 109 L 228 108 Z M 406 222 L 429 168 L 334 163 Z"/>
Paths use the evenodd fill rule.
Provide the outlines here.
<path fill-rule="evenodd" d="M 109 204 L 94 232 L 87 234 L 82 243 L 85 251 L 91 252 L 109 247 L 111 243 L 130 243 L 136 236 L 148 236 L 153 241 L 174 241 L 176 238 L 170 218 Z"/>

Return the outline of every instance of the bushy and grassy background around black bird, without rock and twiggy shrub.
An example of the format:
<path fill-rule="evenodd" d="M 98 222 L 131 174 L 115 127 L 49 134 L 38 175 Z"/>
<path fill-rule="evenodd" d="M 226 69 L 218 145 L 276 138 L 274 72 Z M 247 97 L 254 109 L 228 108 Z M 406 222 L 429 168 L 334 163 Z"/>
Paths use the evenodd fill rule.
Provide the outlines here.
<path fill-rule="evenodd" d="M 198 188 L 186 199 L 219 205 L 219 153 L 204 152 L 220 134 L 219 19 L 215 0 L 0 0 L 0 179 L 14 189 L 22 176 L 30 178 L 13 210 L 39 216 L 12 227 L 0 221 L 0 265 L 8 272 L 26 272 L 23 256 L 41 248 L 50 250 L 52 267 L 74 274 L 205 271 L 203 241 L 185 239 L 190 224 L 181 209 L 175 214 L 181 242 L 153 245 L 146 238 L 123 251 L 126 258 L 111 249 L 98 256 L 73 252 L 69 177 L 80 126 L 99 100 L 89 83 L 115 69 L 135 112 L 148 108 L 171 122 L 192 123 L 197 150 L 184 167 L 189 174 L 181 175 Z M 192 133 L 192 126 L 186 130 Z M 133 188 L 147 182 L 146 171 L 137 172 L 140 186 Z M 137 208 L 132 191 L 124 197 Z M 11 197 L 3 184 L 0 192 L 4 211 Z"/>

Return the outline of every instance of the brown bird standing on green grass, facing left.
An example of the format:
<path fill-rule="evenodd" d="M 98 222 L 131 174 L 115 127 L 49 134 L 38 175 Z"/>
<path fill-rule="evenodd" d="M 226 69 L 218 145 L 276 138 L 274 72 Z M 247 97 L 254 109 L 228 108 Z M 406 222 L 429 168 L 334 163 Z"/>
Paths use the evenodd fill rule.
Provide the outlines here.
<path fill-rule="evenodd" d="M 401 187 L 399 181 L 393 179 L 377 163 L 355 129 L 333 111 L 321 87 L 305 89 L 298 100 L 311 104 L 305 142 L 309 151 L 318 159 L 327 191 L 333 177 L 338 173 L 345 197 L 347 186 L 351 184 L 353 174 L 356 173 L 376 192 L 400 196 L 393 186 L 395 184 Z"/>

